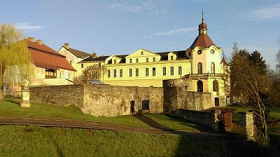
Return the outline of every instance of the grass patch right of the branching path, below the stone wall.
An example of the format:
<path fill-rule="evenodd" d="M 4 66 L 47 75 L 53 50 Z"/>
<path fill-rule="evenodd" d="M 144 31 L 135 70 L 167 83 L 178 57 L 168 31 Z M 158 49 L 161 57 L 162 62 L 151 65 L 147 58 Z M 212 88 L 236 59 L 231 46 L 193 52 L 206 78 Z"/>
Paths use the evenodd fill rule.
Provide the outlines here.
<path fill-rule="evenodd" d="M 149 114 L 144 113 L 144 116 L 151 118 L 153 121 L 156 121 L 160 125 L 165 126 L 171 130 L 191 130 L 191 131 L 210 131 L 211 128 L 207 126 L 200 125 L 197 123 L 192 123 L 184 120 L 183 118 L 177 118 L 174 116 L 169 116 L 166 114 Z"/>

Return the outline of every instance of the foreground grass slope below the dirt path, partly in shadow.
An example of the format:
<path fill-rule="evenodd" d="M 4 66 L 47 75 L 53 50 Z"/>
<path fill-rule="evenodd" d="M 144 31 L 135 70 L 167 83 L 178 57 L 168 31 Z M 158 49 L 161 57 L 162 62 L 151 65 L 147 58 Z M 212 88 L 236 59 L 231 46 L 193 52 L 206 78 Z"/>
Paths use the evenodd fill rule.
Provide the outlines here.
<path fill-rule="evenodd" d="M 35 126 L 0 126 L 0 146 L 0 156 L 267 156 L 239 139 Z"/>

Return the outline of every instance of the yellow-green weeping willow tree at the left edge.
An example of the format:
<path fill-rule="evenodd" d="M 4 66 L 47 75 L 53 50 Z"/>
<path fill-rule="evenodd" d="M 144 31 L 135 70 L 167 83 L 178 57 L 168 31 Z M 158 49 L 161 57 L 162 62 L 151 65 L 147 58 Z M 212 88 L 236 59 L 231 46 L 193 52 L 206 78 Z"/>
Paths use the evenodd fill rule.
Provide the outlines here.
<path fill-rule="evenodd" d="M 0 23 L 0 100 L 3 83 L 22 82 L 29 77 L 30 53 L 22 32 L 13 24 Z"/>

